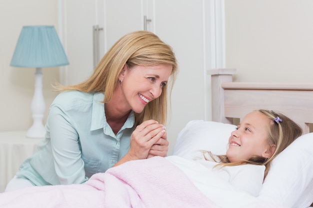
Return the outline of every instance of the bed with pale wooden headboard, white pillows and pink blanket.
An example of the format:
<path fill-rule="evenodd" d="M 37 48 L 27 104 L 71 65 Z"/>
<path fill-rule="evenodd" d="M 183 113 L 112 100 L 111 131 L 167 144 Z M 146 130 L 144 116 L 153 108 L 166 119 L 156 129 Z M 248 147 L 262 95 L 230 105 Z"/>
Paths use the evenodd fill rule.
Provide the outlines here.
<path fill-rule="evenodd" d="M 234 69 L 209 72 L 212 121 L 189 121 L 177 136 L 172 156 L 130 161 L 93 175 L 83 185 L 0 194 L 0 207 L 308 208 L 313 202 L 313 133 L 308 124 L 313 123 L 313 84 L 235 83 Z M 203 157 L 199 150 L 224 154 L 234 122 L 259 108 L 284 113 L 304 134 L 273 160 L 264 182 L 262 176 L 258 183 L 251 181 L 258 196 L 250 196 L 193 162 Z M 180 166 L 170 158 L 179 158 Z M 250 171 L 244 174 L 254 176 Z M 199 191 L 195 182 L 204 188 Z"/>

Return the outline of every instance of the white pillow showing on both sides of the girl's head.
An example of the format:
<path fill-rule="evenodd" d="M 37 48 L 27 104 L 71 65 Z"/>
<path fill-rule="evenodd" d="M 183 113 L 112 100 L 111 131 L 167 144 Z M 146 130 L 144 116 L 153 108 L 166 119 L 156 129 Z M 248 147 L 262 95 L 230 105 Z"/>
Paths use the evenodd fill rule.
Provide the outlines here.
<path fill-rule="evenodd" d="M 200 150 L 225 154 L 236 126 L 192 120 L 178 134 L 173 155 L 202 157 Z M 273 161 L 258 198 L 289 208 L 307 208 L 313 202 L 313 133 L 296 139 Z"/>

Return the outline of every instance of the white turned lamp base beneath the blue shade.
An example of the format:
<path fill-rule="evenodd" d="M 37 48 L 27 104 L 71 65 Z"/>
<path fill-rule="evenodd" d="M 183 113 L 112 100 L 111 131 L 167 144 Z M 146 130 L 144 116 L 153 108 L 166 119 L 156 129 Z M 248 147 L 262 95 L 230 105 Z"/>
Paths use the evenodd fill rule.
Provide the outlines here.
<path fill-rule="evenodd" d="M 28 129 L 26 137 L 28 138 L 44 138 L 45 129 L 42 124 L 45 104 L 42 95 L 42 72 L 41 68 L 36 68 L 35 72 L 35 91 L 31 101 L 31 112 L 33 124 Z"/>

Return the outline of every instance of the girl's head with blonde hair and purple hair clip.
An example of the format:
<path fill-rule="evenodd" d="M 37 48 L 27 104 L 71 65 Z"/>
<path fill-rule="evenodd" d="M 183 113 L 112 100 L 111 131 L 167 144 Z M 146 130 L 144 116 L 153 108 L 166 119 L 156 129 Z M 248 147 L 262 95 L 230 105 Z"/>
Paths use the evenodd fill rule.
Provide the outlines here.
<path fill-rule="evenodd" d="M 274 111 L 256 110 L 237 125 L 229 137 L 226 155 L 217 158 L 222 166 L 264 165 L 265 178 L 270 162 L 301 134 L 301 127 L 288 117 Z"/>

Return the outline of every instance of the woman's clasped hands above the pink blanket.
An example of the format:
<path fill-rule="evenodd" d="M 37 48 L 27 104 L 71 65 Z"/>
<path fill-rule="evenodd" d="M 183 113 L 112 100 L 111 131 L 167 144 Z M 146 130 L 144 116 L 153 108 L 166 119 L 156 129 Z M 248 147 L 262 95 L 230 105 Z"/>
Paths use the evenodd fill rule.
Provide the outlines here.
<path fill-rule="evenodd" d="M 165 127 L 154 120 L 138 125 L 130 136 L 130 148 L 114 166 L 131 160 L 146 159 L 152 156 L 165 156 L 168 149 Z"/>

